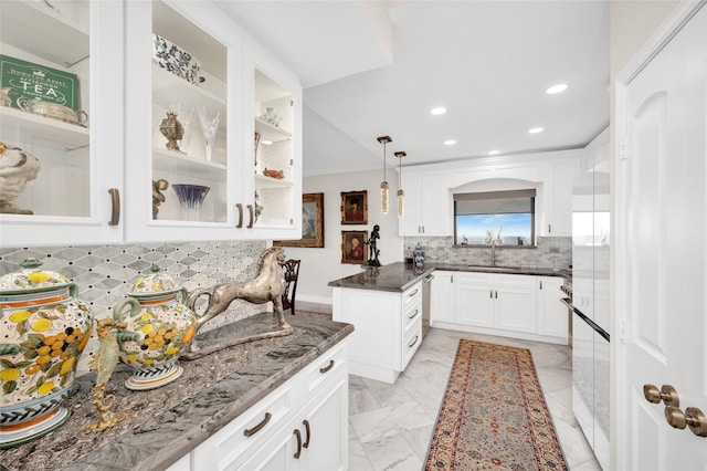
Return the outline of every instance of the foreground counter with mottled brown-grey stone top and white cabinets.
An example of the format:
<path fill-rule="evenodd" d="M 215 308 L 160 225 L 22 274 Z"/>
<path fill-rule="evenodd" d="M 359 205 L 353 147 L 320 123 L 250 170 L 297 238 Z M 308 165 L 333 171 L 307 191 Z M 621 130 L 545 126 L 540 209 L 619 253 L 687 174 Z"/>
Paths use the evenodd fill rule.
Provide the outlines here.
<path fill-rule="evenodd" d="M 246 459 L 250 454 L 265 462 L 277 452 L 275 447 L 267 447 L 270 442 L 266 439 L 278 438 L 278 429 L 284 429 L 288 439 L 284 448 L 295 447 L 293 429 L 302 428 L 302 418 L 296 417 L 300 411 L 312 411 L 313 417 L 305 419 L 312 422 L 313 433 L 336 438 L 336 442 L 328 441 L 327 447 L 320 446 L 319 450 L 327 448 L 325 451 L 331 454 L 334 448 L 346 464 L 346 337 L 354 326 L 297 316 L 287 316 L 287 321 L 294 327 L 292 335 L 243 344 L 190 362 L 182 360 L 182 376 L 158 389 L 126 389 L 123 384 L 131 370 L 119 367 L 113 374 L 106 394 L 116 397 L 113 410 L 130 410 L 131 414 L 116 427 L 102 432 L 84 431 L 97 418 L 92 405 L 95 375 L 77 378 L 72 396 L 62 402 L 72 412 L 68 421 L 44 437 L 0 451 L 1 467 L 8 470 L 152 471 L 171 465 L 170 469 L 178 470 L 213 470 Z M 272 313 L 261 313 L 199 337 L 205 342 L 208 337 L 238 336 L 275 323 Z M 298 383 L 293 383 L 295 380 Z M 319 395 L 325 387 L 326 396 Z M 299 399 L 302 405 L 297 404 Z M 319 404 L 312 402 L 318 399 L 327 404 L 328 425 L 331 425 L 331 419 L 335 419 L 335 425 L 342 421 L 339 430 L 316 430 Z M 262 410 L 258 410 L 261 405 Z M 272 417 L 270 425 L 251 437 L 244 437 L 244 428 L 252 429 L 266 422 L 263 420 L 265 415 Z M 230 428 L 234 429 L 233 438 L 224 436 Z M 210 440 L 214 436 L 218 436 L 215 443 Z M 310 449 L 306 450 L 310 456 L 317 453 L 314 450 L 316 444 L 313 439 Z M 257 448 L 266 449 L 270 454 L 258 456 Z M 235 461 L 223 462 L 231 458 Z M 306 460 L 309 456 L 303 452 L 302 458 Z"/>

